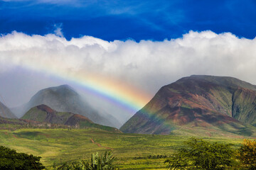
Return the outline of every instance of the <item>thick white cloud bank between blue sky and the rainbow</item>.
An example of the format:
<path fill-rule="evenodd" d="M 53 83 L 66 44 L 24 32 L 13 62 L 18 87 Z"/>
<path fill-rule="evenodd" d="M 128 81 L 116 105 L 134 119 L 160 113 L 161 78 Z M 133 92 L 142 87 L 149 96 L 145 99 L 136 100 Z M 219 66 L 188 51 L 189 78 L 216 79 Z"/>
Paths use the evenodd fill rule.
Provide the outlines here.
<path fill-rule="evenodd" d="M 255 65 L 256 38 L 210 30 L 190 31 L 182 38 L 161 42 L 107 42 L 91 36 L 66 40 L 59 33 L 41 36 L 15 31 L 0 38 L 0 75 L 17 67 L 32 72 L 41 68 L 64 74 L 82 72 L 85 77 L 122 81 L 149 96 L 191 74 L 237 77 L 256 84 Z"/>

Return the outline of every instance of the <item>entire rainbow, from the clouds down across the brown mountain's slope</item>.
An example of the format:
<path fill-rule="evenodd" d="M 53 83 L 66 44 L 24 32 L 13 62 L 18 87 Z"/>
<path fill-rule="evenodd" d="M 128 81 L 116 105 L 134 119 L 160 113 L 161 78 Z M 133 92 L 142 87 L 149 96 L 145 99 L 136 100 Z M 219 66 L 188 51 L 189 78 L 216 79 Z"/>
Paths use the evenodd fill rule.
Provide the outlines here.
<path fill-rule="evenodd" d="M 141 110 L 151 99 L 149 94 L 143 93 L 142 90 L 134 88 L 131 84 L 124 84 L 123 81 L 112 77 L 87 72 L 85 69 L 68 72 L 68 69 L 60 69 L 58 67 L 59 64 L 63 64 L 64 68 L 68 68 L 68 64 L 64 65 L 65 62 L 61 61 L 58 61 L 56 67 L 47 67 L 43 62 L 35 63 L 28 60 L 17 65 L 23 69 L 49 74 L 54 79 L 69 81 L 89 94 L 103 98 L 108 103 L 114 103 L 114 106 L 125 109 L 131 116 Z M 174 130 L 174 127 L 169 122 L 166 122 L 162 115 L 154 115 L 154 113 L 146 109 L 142 110 L 142 114 L 161 125 L 162 128 Z"/>

